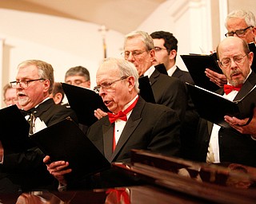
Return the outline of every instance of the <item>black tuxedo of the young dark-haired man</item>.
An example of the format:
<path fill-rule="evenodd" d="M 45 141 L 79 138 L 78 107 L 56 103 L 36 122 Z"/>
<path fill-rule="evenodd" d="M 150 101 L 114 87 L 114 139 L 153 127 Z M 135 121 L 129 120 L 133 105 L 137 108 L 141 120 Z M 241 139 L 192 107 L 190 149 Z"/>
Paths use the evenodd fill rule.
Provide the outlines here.
<path fill-rule="evenodd" d="M 182 71 L 178 68 L 178 66 L 176 67 L 176 70 L 174 71 L 172 77 L 176 77 L 184 83 L 188 82 L 190 84 L 194 84 L 194 80 L 190 76 L 190 73 Z M 196 109 L 194 108 L 194 104 L 191 100 L 190 94 L 187 89 L 186 93 L 188 95 L 188 101 L 185 118 L 181 128 L 182 158 L 194 159 L 194 141 L 196 139 L 197 134 L 199 115 Z"/>

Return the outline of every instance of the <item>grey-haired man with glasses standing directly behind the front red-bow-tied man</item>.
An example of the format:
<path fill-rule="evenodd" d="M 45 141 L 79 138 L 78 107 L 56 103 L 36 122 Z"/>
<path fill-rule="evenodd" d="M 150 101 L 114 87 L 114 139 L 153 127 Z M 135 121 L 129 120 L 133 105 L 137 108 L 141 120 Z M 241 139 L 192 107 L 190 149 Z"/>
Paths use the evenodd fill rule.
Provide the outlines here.
<path fill-rule="evenodd" d="M 143 31 L 128 33 L 125 37 L 122 57 L 135 65 L 139 77 L 149 77 L 155 102 L 174 109 L 179 119 L 183 121 L 188 103 L 186 86 L 181 80 L 159 73 L 154 68 L 155 50 L 152 37 Z M 106 116 L 106 113 L 98 109 L 94 115 L 100 119 Z"/>

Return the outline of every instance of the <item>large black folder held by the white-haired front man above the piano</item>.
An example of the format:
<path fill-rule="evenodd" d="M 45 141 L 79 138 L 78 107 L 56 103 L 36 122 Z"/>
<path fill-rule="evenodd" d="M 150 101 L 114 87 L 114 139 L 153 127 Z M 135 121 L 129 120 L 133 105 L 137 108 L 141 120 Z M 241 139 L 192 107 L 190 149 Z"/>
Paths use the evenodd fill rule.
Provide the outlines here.
<path fill-rule="evenodd" d="M 62 120 L 30 135 L 41 151 L 50 155 L 51 162 L 64 160 L 72 169 L 67 180 L 77 180 L 110 167 L 110 163 L 97 147 L 70 119 Z"/>

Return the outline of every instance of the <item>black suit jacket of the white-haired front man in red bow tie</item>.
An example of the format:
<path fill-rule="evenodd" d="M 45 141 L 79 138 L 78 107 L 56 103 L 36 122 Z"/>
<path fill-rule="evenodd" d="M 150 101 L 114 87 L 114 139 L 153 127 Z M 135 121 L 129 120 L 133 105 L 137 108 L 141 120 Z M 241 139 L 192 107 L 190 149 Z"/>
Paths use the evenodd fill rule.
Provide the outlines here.
<path fill-rule="evenodd" d="M 93 124 L 88 138 L 110 162 L 130 159 L 131 149 L 154 151 L 163 155 L 179 155 L 180 122 L 174 110 L 160 104 L 146 103 L 139 97 L 117 146 L 112 153 L 114 126 L 108 116 Z"/>

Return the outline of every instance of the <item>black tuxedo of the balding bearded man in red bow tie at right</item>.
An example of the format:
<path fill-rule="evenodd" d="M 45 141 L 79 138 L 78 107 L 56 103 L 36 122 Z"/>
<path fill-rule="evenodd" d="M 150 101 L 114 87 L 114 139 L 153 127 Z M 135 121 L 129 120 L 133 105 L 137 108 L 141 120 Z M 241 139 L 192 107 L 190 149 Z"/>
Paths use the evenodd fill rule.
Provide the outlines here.
<path fill-rule="evenodd" d="M 251 73 L 234 100 L 239 100 L 245 96 L 255 84 L 256 74 Z M 218 93 L 223 95 L 223 88 L 219 89 Z M 212 123 L 201 120 L 197 141 L 197 159 L 199 161 L 206 161 L 212 128 Z M 234 129 L 221 128 L 218 131 L 218 143 L 219 156 L 222 163 L 242 163 L 256 167 L 256 141 L 251 139 L 250 135 L 241 134 Z"/>

